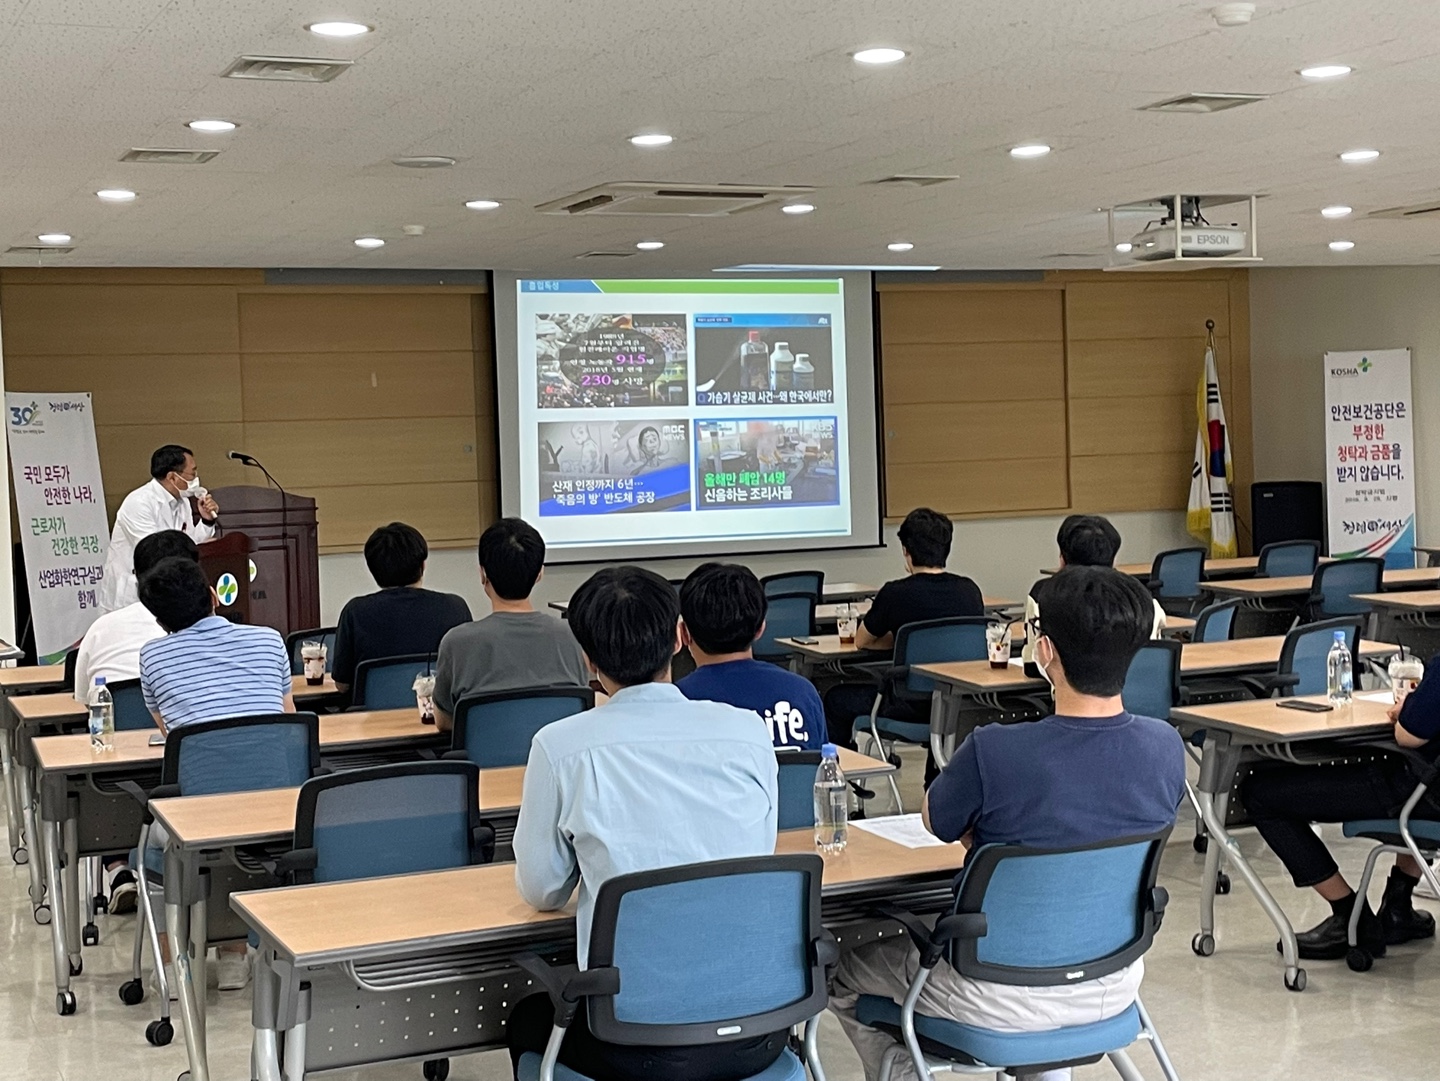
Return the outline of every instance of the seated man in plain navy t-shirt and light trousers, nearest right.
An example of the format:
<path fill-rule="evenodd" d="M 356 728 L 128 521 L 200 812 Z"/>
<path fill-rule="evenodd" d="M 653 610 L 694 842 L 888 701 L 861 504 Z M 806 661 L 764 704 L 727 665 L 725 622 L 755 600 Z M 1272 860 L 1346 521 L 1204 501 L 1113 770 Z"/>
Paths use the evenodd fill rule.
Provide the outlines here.
<path fill-rule="evenodd" d="M 971 733 L 926 792 L 926 828 L 968 848 L 1070 848 L 1174 825 L 1185 790 L 1184 744 L 1172 727 L 1129 714 L 1120 701 L 1130 661 L 1149 639 L 1153 619 L 1151 594 L 1128 574 L 1109 567 L 1056 574 L 1035 642 L 1035 662 L 1054 687 L 1056 714 Z M 855 1022 L 854 1003 L 860 995 L 900 1002 L 917 964 L 907 938 L 871 943 L 841 957 L 831 1009 L 854 1041 L 865 1077 L 878 1074 L 894 1041 Z M 968 979 L 942 960 L 917 1012 L 998 1032 L 1084 1025 L 1129 1009 L 1143 974 L 1143 962 L 1136 960 L 1063 987 L 1014 987 Z M 1028 1077 L 1050 1081 L 1068 1072 Z"/>

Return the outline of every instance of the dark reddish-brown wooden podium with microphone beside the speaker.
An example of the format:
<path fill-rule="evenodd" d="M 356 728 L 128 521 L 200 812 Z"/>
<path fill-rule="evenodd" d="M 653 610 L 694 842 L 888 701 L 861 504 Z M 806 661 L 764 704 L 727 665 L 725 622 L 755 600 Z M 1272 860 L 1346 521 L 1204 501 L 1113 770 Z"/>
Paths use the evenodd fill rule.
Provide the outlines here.
<path fill-rule="evenodd" d="M 288 495 L 282 504 L 281 494 L 274 488 L 253 485 L 215 488 L 210 495 L 220 504 L 220 525 L 226 537 L 240 533 L 249 541 L 246 576 L 242 579 L 246 583 L 249 622 L 272 626 L 282 635 L 320 626 L 315 501 Z M 206 547 L 202 546 L 202 554 Z M 249 577 L 252 561 L 253 579 Z"/>

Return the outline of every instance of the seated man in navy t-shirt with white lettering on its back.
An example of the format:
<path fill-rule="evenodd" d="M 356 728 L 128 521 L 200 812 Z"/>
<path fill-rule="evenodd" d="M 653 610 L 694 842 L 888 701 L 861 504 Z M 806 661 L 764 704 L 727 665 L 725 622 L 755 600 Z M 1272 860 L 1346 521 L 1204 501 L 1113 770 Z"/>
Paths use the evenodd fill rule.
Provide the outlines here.
<path fill-rule="evenodd" d="M 821 748 L 825 710 L 814 684 L 750 652 L 765 630 L 765 586 L 749 567 L 696 567 L 680 587 L 680 615 L 696 659 L 696 671 L 675 684 L 685 698 L 755 710 L 778 748 Z"/>

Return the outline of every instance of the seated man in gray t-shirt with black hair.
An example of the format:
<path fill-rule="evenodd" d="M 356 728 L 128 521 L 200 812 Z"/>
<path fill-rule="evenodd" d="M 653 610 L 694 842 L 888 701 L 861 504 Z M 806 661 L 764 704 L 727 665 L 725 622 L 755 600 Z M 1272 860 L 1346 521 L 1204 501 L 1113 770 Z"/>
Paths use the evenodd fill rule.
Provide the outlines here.
<path fill-rule="evenodd" d="M 536 612 L 530 592 L 544 573 L 544 538 L 520 518 L 501 518 L 480 538 L 480 583 L 492 613 L 441 639 L 435 659 L 435 720 L 477 694 L 528 687 L 589 687 L 585 653 L 570 625 Z"/>

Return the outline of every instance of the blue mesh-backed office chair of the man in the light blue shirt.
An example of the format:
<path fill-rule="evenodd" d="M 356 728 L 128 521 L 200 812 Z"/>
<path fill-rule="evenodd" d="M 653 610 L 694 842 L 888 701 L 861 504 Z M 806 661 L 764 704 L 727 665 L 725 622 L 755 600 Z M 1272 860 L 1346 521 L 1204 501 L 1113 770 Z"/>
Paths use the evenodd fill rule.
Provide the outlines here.
<path fill-rule="evenodd" d="M 668 867 L 600 885 L 589 967 L 517 963 L 550 993 L 554 1028 L 544 1055 L 528 1052 L 520 1081 L 589 1081 L 557 1067 L 564 1032 L 585 1006 L 590 1032 L 609 1044 L 723 1045 L 805 1025 L 805 1058 L 819 1068 L 816 1031 L 825 967 L 840 951 L 821 924 L 815 855 L 755 856 Z M 804 1081 L 789 1049 L 749 1081 Z"/>

